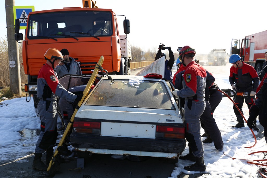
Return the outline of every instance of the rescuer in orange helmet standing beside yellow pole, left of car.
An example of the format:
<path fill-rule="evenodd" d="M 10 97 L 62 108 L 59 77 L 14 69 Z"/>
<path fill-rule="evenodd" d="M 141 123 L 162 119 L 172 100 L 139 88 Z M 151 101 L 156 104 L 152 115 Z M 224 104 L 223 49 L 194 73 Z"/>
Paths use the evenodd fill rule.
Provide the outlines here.
<path fill-rule="evenodd" d="M 32 167 L 46 171 L 47 165 L 41 161 L 42 153 L 46 151 L 46 164 L 53 155 L 53 146 L 57 141 L 57 97 L 77 103 L 83 95 L 76 96 L 64 89 L 58 82 L 54 68 L 63 61 L 59 50 L 49 48 L 45 52 L 46 64 L 42 66 L 37 77 L 38 112 L 41 120 L 41 132 L 36 143 Z M 60 149 L 58 149 L 60 152 Z"/>

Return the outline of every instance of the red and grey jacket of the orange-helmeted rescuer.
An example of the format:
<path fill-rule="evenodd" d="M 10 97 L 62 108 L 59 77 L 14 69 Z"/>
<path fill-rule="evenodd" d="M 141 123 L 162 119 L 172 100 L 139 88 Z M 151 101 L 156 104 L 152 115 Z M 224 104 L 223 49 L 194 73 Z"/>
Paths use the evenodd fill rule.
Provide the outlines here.
<path fill-rule="evenodd" d="M 48 64 L 42 66 L 37 77 L 37 97 L 51 98 L 56 100 L 57 96 L 68 101 L 74 102 L 77 96 L 70 93 L 58 82 L 57 73 Z M 50 100 L 51 100 L 50 99 Z"/>

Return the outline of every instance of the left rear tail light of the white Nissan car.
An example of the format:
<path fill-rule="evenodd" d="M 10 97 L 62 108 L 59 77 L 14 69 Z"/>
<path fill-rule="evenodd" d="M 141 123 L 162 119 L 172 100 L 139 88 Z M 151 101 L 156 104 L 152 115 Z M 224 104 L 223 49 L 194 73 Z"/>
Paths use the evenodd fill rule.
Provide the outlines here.
<path fill-rule="evenodd" d="M 101 122 L 74 121 L 73 132 L 100 134 Z"/>

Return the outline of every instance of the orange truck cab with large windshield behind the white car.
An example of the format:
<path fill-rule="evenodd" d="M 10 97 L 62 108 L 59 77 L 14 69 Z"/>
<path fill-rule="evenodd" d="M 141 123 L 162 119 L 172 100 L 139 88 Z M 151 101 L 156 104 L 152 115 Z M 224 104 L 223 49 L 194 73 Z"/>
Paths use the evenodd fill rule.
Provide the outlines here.
<path fill-rule="evenodd" d="M 129 20 L 124 16 L 126 35 L 120 39 L 117 17 L 111 9 L 98 8 L 92 0 L 83 0 L 83 8 L 30 12 L 22 41 L 23 66 L 28 75 L 25 91 L 36 94 L 38 72 L 46 62 L 44 54 L 49 48 L 68 49 L 70 57 L 79 62 L 83 75 L 92 73 L 100 56 L 104 56 L 102 67 L 109 74 L 127 74 L 129 66 L 121 55 L 120 43 L 130 33 Z M 18 32 L 19 19 L 16 19 L 16 41 L 23 39 Z"/>

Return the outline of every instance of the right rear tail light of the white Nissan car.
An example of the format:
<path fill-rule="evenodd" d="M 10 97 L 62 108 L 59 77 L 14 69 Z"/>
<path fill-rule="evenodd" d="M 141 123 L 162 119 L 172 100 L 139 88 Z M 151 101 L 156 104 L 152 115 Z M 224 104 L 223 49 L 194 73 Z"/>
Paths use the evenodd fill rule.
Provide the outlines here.
<path fill-rule="evenodd" d="M 156 137 L 169 139 L 184 139 L 185 130 L 183 126 L 156 126 Z"/>

